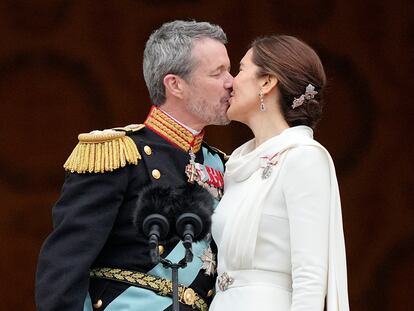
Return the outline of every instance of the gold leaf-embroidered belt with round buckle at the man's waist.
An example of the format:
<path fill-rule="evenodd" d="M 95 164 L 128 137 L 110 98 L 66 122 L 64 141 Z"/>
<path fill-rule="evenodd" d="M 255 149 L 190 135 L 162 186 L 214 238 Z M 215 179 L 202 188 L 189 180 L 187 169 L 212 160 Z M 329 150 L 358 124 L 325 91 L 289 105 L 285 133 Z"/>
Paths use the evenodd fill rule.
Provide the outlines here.
<path fill-rule="evenodd" d="M 157 295 L 172 297 L 172 281 L 159 276 L 115 268 L 95 268 L 89 272 L 92 278 L 102 278 L 152 290 Z M 207 311 L 208 304 L 193 289 L 179 285 L 178 297 L 181 303 L 199 311 Z"/>

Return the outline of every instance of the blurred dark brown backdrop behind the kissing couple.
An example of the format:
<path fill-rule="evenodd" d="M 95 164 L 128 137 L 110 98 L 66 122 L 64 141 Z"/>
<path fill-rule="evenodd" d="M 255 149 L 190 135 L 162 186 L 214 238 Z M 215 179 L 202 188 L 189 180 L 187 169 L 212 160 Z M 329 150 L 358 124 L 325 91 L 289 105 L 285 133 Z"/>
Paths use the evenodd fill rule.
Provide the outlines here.
<path fill-rule="evenodd" d="M 411 0 L 1 0 L 0 309 L 35 310 L 37 255 L 77 134 L 142 122 L 146 39 L 196 19 L 227 32 L 233 74 L 258 35 L 319 51 L 330 85 L 316 137 L 338 170 L 351 309 L 414 310 L 413 16 Z M 251 137 L 239 124 L 207 133 L 226 152 Z"/>

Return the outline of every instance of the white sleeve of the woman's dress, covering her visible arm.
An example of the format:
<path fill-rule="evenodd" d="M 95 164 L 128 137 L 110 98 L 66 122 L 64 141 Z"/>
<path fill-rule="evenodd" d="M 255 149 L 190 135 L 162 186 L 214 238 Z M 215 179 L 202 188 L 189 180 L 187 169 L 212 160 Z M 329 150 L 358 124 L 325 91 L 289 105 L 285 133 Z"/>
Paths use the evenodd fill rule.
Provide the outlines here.
<path fill-rule="evenodd" d="M 291 311 L 322 311 L 327 288 L 330 166 L 325 152 L 301 146 L 286 155 L 283 192 L 291 244 Z"/>

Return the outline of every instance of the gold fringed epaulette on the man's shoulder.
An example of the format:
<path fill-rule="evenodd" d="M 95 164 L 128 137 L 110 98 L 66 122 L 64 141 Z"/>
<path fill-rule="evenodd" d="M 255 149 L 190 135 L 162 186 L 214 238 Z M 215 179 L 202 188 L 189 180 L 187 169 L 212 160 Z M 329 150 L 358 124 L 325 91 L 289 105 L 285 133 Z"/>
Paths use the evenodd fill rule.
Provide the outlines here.
<path fill-rule="evenodd" d="M 129 132 L 145 127 L 133 124 L 123 128 L 79 134 L 79 142 L 63 167 L 76 173 L 111 172 L 128 164 L 138 164 L 141 155 Z"/>

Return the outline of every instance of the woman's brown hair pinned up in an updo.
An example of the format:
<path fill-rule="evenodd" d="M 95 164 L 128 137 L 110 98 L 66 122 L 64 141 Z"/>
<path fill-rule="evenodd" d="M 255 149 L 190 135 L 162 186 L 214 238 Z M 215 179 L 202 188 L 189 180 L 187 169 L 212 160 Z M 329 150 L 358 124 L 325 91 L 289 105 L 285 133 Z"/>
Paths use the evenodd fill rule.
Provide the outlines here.
<path fill-rule="evenodd" d="M 273 75 L 278 79 L 280 105 L 289 126 L 307 125 L 312 129 L 322 116 L 322 95 L 326 75 L 316 52 L 306 43 L 292 36 L 260 37 L 251 44 L 253 63 L 259 67 L 257 75 Z M 311 84 L 317 92 L 313 98 L 292 108 L 293 101 L 305 95 Z"/>

